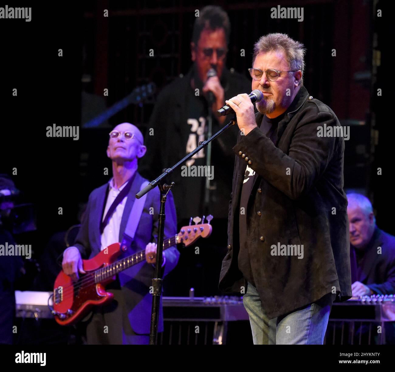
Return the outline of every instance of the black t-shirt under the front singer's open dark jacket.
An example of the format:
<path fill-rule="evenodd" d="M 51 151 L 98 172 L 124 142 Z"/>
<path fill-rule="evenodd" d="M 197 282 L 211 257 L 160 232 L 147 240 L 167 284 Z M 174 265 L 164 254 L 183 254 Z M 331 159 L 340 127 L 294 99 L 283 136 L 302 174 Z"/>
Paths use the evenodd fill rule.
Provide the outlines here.
<path fill-rule="evenodd" d="M 285 113 L 282 113 L 274 119 L 270 119 L 263 115 L 260 130 L 276 144 L 277 127 L 278 123 L 284 118 Z M 250 244 L 248 244 L 248 212 L 254 198 L 250 198 L 254 182 L 259 178 L 255 171 L 248 166 L 246 168 L 243 186 L 241 188 L 240 205 L 239 205 L 239 237 L 240 237 L 240 251 L 238 257 L 239 270 L 243 273 L 244 277 L 255 287 L 254 276 L 252 275 L 250 264 Z M 259 180 L 257 180 L 259 181 Z"/>

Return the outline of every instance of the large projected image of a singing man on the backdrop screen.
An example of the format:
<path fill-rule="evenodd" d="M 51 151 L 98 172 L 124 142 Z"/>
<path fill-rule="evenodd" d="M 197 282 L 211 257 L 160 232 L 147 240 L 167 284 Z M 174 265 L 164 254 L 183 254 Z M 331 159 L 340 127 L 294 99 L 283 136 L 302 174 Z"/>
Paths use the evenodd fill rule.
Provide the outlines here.
<path fill-rule="evenodd" d="M 209 106 L 211 111 L 216 111 L 224 106 L 226 97 L 251 91 L 250 81 L 244 74 L 226 68 L 230 37 L 226 12 L 218 6 L 206 6 L 200 9 L 199 16 L 194 13 L 194 20 L 190 50 L 184 51 L 191 53 L 193 64 L 187 74 L 175 79 L 161 91 L 148 124 L 145 136 L 148 150 L 139 172 L 150 180 L 159 176 L 163 168 L 172 166 L 198 147 L 199 142 L 207 140 Z M 228 123 L 232 115 L 229 116 L 218 119 L 215 114 L 212 115 L 213 134 Z M 207 147 L 186 164 L 182 164 L 187 167 L 187 172 L 182 173 L 182 169 L 178 168 L 171 175 L 171 181 L 175 182 L 173 194 L 179 225 L 188 224 L 191 216 L 210 213 L 215 217 L 214 234 L 219 237 L 226 235 L 235 161 L 232 147 L 237 140 L 237 130 L 232 129 L 212 142 L 211 167 L 206 173 L 212 177 L 195 172 L 207 166 Z M 194 174 L 199 176 L 189 176 Z M 207 178 L 213 178 L 209 180 L 209 203 L 205 202 Z M 201 245 L 199 247 L 202 248 Z M 215 247 L 210 247 L 211 257 L 207 257 L 208 263 L 204 266 L 205 283 L 210 286 L 206 288 L 207 295 L 219 294 L 216 285 L 218 263 L 224 255 L 224 245 L 217 248 L 216 255 Z M 201 249 L 200 254 L 193 255 L 192 258 L 205 260 L 206 251 Z M 202 282 L 203 265 L 196 262 L 196 271 L 192 272 L 190 266 L 193 264 L 187 257 L 186 264 L 181 262 L 176 272 L 173 272 L 173 277 L 179 275 L 183 278 L 175 281 L 174 285 L 167 286 L 169 290 L 179 291 L 174 292 L 174 295 L 184 295 L 190 287 L 202 294 L 199 283 Z M 189 282 L 187 278 L 191 278 Z"/>

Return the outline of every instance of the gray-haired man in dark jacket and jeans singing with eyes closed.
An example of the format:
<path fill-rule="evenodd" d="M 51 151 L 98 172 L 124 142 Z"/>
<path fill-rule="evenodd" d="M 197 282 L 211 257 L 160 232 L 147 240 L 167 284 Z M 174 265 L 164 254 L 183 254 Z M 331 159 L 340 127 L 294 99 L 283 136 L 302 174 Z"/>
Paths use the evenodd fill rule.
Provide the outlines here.
<path fill-rule="evenodd" d="M 285 34 L 262 36 L 249 69 L 256 103 L 226 103 L 240 132 L 220 288 L 241 292 L 254 344 L 323 344 L 334 300 L 352 296 L 344 138 L 303 86 L 305 49 Z"/>

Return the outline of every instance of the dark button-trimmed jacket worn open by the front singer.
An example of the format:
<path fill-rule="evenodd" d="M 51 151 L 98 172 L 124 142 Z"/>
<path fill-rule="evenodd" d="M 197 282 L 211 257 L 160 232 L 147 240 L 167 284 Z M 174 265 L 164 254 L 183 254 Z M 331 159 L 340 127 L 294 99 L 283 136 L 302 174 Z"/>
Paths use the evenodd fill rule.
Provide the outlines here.
<path fill-rule="evenodd" d="M 259 126 L 262 115 L 256 115 Z M 243 293 L 238 268 L 239 199 L 247 163 L 260 177 L 252 188 L 247 237 L 262 307 L 275 318 L 325 294 L 352 296 L 343 191 L 344 138 L 318 137 L 318 127 L 340 126 L 335 113 L 301 87 L 278 124 L 276 145 L 260 128 L 238 138 L 229 202 L 228 254 L 220 289 Z M 272 245 L 302 245 L 303 259 L 272 255 Z"/>

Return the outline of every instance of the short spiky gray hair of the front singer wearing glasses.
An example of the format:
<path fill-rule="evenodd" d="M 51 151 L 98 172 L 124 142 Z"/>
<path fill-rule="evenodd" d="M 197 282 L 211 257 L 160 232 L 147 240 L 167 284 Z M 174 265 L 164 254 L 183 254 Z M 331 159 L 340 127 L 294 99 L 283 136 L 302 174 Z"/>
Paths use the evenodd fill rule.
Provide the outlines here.
<path fill-rule="evenodd" d="M 301 70 L 300 86 L 303 86 L 306 49 L 302 43 L 295 42 L 287 34 L 276 33 L 261 36 L 254 45 L 252 64 L 254 64 L 258 54 L 277 50 L 284 51 L 290 70 Z"/>

